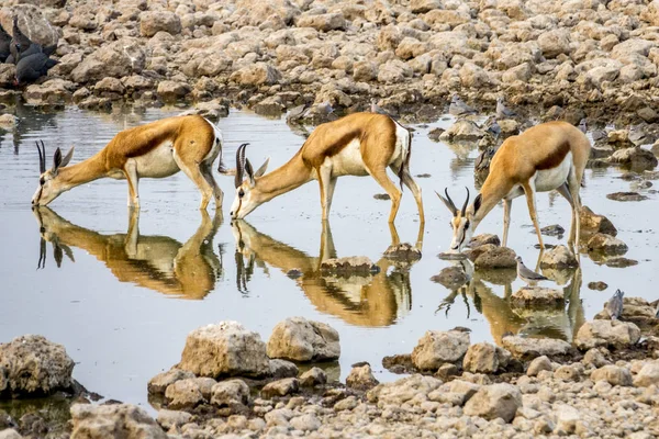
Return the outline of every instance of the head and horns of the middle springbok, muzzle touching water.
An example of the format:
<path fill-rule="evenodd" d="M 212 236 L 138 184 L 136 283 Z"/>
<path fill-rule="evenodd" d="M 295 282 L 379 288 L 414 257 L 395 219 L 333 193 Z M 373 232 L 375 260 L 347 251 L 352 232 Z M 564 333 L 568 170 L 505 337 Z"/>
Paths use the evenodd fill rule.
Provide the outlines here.
<path fill-rule="evenodd" d="M 258 190 L 258 179 L 266 173 L 268 169 L 269 158 L 261 165 L 260 168 L 254 171 L 249 160 L 245 158 L 245 148 L 249 144 L 243 144 L 236 150 L 236 198 L 231 205 L 232 219 L 242 219 L 252 211 L 266 202 Z"/>

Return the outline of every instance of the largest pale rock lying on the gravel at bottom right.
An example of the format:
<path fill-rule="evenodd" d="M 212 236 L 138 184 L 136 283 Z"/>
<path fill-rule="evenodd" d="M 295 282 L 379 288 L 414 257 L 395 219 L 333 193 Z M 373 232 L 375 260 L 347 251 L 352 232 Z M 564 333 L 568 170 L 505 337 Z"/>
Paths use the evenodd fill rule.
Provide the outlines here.
<path fill-rule="evenodd" d="M 520 390 L 512 384 L 500 383 L 482 386 L 465 404 L 465 415 L 480 416 L 488 420 L 502 418 L 510 423 L 520 407 L 522 407 Z"/>

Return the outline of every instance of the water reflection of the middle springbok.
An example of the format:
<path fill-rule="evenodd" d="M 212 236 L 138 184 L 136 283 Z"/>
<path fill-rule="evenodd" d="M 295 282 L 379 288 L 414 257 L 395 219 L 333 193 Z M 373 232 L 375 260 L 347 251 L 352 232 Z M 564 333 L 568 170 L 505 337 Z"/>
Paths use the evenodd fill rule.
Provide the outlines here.
<path fill-rule="evenodd" d="M 272 267 L 294 278 L 316 309 L 350 325 L 389 326 L 411 309 L 409 264 L 396 264 L 383 257 L 376 262 L 380 271 L 375 274 L 334 277 L 321 272 L 322 261 L 336 258 L 327 222 L 323 222 L 319 257 L 310 257 L 272 239 L 245 221 L 234 221 L 232 226 L 236 239 L 238 289 L 243 291 L 246 291 L 256 263 L 264 270 Z M 398 244 L 398 234 L 392 239 Z"/>

